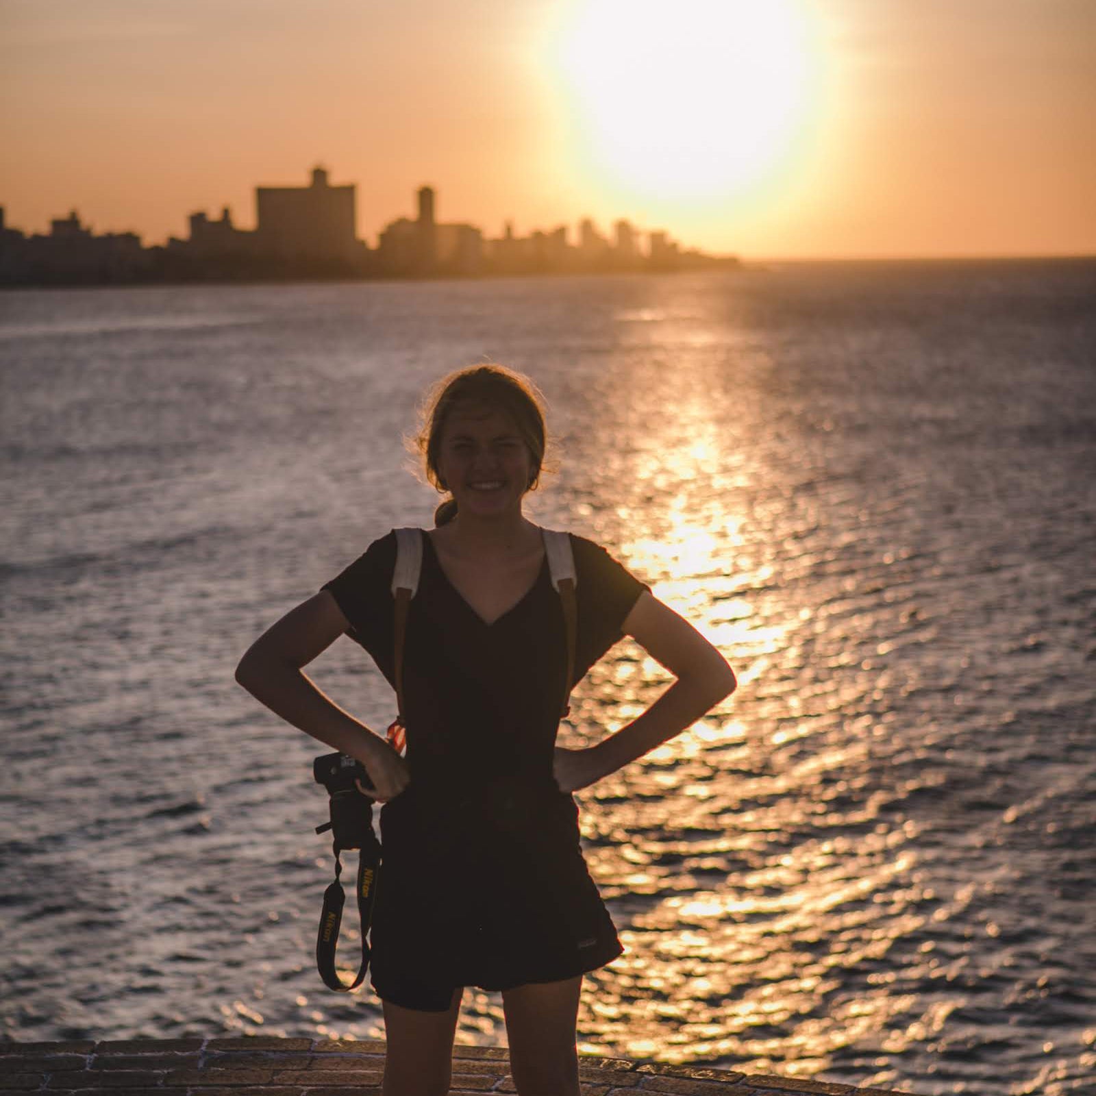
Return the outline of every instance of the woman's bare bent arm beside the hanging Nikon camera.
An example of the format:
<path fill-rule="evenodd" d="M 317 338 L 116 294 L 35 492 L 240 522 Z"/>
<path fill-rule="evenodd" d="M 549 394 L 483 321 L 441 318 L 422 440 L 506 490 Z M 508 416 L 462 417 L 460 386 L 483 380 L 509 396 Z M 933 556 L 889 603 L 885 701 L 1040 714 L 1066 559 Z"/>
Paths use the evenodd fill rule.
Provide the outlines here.
<path fill-rule="evenodd" d="M 410 781 L 407 763 L 301 672 L 349 627 L 339 603 L 328 591 L 320 591 L 251 644 L 236 667 L 236 680 L 286 722 L 362 762 L 376 789 L 370 798 L 385 802 Z"/>

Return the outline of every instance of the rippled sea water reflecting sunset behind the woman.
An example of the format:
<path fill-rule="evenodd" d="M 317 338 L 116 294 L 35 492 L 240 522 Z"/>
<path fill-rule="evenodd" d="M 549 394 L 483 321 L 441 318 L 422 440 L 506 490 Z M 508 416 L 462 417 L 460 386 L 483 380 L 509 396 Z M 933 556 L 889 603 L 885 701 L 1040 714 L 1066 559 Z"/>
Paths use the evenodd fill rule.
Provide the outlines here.
<path fill-rule="evenodd" d="M 3 1032 L 381 1030 L 312 967 L 323 747 L 232 669 L 429 521 L 400 435 L 492 357 L 551 404 L 536 520 L 741 680 L 580 796 L 627 947 L 584 1049 L 1092 1092 L 1094 305 L 1087 263 L 0 296 Z M 313 671 L 390 716 L 349 641 Z M 664 681 L 620 644 L 562 741 Z"/>

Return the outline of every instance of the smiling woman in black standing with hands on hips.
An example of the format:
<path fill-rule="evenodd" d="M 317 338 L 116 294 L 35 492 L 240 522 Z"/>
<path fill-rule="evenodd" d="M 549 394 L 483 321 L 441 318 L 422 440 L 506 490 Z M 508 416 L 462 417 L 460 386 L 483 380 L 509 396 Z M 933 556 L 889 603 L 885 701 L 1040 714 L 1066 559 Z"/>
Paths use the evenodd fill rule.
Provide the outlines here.
<path fill-rule="evenodd" d="M 408 617 L 406 757 L 301 672 L 345 632 L 395 681 L 395 534 L 278 620 L 237 670 L 283 719 L 358 758 L 385 804 L 370 980 L 384 1003 L 386 1096 L 448 1092 L 465 985 L 502 992 L 520 1096 L 578 1096 L 582 975 L 623 949 L 582 858 L 571 792 L 677 734 L 735 686 L 699 632 L 572 535 L 574 680 L 623 635 L 677 680 L 596 745 L 556 746 L 574 682 L 541 530 L 522 513 L 545 438 L 535 389 L 500 366 L 454 374 L 430 404 L 419 447 L 449 499 L 423 536 Z"/>

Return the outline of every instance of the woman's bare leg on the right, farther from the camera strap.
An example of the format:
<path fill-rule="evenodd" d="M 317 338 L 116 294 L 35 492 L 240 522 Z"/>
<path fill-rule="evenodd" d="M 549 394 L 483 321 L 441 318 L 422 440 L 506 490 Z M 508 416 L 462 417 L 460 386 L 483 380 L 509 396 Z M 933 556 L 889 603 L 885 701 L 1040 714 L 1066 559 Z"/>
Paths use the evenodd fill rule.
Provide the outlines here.
<path fill-rule="evenodd" d="M 504 990 L 510 1072 L 518 1096 L 579 1096 L 574 1025 L 582 975 Z"/>

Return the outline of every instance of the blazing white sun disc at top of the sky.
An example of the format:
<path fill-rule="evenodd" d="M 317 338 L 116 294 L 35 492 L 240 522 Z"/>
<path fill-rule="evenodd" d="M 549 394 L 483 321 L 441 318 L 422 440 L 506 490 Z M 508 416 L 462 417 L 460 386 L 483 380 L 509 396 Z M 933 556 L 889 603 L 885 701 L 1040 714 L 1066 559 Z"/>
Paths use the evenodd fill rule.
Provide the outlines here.
<path fill-rule="evenodd" d="M 558 38 L 601 181 L 713 199 L 785 168 L 813 100 L 802 0 L 578 0 Z"/>

